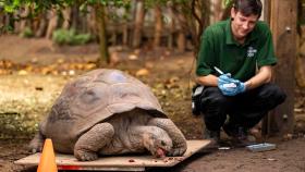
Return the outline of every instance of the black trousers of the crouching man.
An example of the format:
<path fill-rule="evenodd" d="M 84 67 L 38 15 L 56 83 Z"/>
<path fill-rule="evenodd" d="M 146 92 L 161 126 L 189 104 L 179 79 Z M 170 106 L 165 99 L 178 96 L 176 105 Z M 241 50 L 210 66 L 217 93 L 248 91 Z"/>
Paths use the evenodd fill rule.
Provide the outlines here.
<path fill-rule="evenodd" d="M 218 87 L 205 87 L 200 97 L 200 111 L 207 130 L 219 131 L 230 116 L 229 124 L 251 128 L 269 110 L 285 100 L 284 91 L 274 84 L 265 84 L 236 96 L 223 96 Z"/>

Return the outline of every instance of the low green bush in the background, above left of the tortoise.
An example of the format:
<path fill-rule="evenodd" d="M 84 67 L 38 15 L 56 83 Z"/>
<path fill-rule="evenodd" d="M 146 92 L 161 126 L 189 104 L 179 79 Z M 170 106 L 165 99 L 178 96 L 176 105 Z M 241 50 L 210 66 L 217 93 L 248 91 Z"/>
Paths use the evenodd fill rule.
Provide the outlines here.
<path fill-rule="evenodd" d="M 58 45 L 85 45 L 90 38 L 90 34 L 77 34 L 75 29 L 57 29 L 52 35 L 52 40 Z"/>

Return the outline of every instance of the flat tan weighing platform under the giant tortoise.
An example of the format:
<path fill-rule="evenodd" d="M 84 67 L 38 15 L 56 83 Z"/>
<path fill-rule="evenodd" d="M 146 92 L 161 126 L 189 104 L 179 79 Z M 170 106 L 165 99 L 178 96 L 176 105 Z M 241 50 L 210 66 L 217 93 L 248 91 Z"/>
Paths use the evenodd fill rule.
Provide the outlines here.
<path fill-rule="evenodd" d="M 115 156 L 100 157 L 95 161 L 78 161 L 73 155 L 56 153 L 58 170 L 90 170 L 90 171 L 145 171 L 145 168 L 173 167 L 198 150 L 205 148 L 210 140 L 187 140 L 187 150 L 182 157 L 157 159 L 152 156 Z M 38 165 L 40 152 L 14 161 L 15 164 Z"/>

